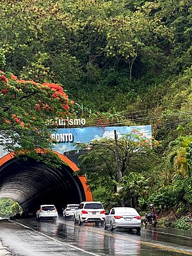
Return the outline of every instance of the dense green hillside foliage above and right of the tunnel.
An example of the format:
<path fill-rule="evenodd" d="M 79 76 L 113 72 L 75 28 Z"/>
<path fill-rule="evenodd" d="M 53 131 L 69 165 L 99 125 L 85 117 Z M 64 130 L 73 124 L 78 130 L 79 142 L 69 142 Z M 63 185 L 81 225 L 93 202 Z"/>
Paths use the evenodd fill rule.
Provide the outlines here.
<path fill-rule="evenodd" d="M 90 124 L 151 124 L 159 143 L 124 173 L 122 196 L 136 196 L 140 209 L 154 202 L 175 214 L 192 211 L 191 0 L 4 0 L 0 7 L 0 68 L 64 84 L 76 115 Z M 103 185 L 116 182 L 115 156 L 103 147 L 83 160 L 99 173 L 86 173 L 92 188 L 102 170 Z"/>

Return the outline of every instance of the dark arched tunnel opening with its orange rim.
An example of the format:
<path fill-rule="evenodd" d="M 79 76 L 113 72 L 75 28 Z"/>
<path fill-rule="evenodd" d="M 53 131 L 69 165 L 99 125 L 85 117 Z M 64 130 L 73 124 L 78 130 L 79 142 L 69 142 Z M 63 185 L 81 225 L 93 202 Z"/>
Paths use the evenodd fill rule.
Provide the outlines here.
<path fill-rule="evenodd" d="M 15 154 L 0 159 L 0 198 L 12 198 L 23 211 L 34 212 L 41 204 L 54 204 L 61 212 L 66 204 L 92 201 L 92 192 L 79 168 L 68 157 L 55 152 L 63 161 L 60 170 Z"/>

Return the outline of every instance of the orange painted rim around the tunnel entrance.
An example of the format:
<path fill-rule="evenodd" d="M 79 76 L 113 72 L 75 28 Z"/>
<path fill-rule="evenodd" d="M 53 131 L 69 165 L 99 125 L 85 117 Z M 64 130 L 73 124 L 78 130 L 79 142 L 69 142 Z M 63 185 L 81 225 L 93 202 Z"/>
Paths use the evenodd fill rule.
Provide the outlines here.
<path fill-rule="evenodd" d="M 62 154 L 60 154 L 59 152 L 56 152 L 56 151 L 53 151 L 55 154 L 58 155 L 58 157 L 60 157 L 61 161 L 63 161 L 63 163 L 66 163 L 68 164 L 68 166 L 74 171 L 74 172 L 77 172 L 79 170 L 79 168 L 76 166 L 75 163 L 73 163 L 70 159 L 68 159 L 67 156 L 63 156 Z M 9 154 L 6 154 L 5 156 L 1 157 L 0 159 L 0 167 L 10 161 L 11 159 L 13 159 L 15 157 L 15 153 L 12 152 L 12 153 L 9 153 Z M 90 187 L 88 186 L 88 184 L 86 184 L 87 180 L 86 180 L 86 177 L 84 176 L 81 176 L 79 177 L 79 180 L 81 181 L 81 184 L 83 186 L 83 189 L 84 189 L 84 195 L 85 195 L 85 198 L 86 198 L 86 201 L 93 201 L 93 196 L 92 196 L 92 192 L 90 191 Z"/>

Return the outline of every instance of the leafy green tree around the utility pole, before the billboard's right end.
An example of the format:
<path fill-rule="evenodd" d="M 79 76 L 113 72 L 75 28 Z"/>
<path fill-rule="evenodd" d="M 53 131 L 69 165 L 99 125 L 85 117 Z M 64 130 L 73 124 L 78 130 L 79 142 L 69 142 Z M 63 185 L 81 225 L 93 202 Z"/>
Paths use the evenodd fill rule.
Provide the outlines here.
<path fill-rule="evenodd" d="M 100 195 L 106 206 L 120 204 L 124 199 L 125 205 L 138 207 L 139 199 L 146 196 L 152 183 L 150 169 L 157 163 L 151 145 L 151 140 L 134 130 L 120 137 L 116 144 L 113 138 L 92 141 L 88 154 L 81 156 L 78 174 L 86 175 L 91 189 L 104 188 L 102 194 L 98 191 L 94 195 Z"/>

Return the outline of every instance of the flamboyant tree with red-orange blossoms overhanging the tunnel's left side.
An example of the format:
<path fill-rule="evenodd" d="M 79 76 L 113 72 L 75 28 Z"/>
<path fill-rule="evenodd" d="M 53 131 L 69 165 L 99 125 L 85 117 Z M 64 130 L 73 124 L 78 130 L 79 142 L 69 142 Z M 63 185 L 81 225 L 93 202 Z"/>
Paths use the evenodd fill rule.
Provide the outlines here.
<path fill-rule="evenodd" d="M 0 71 L 0 138 L 7 152 L 37 156 L 39 148 L 51 153 L 49 120 L 66 118 L 74 104 L 60 84 L 20 80 Z M 47 124 L 48 122 L 48 124 Z"/>

